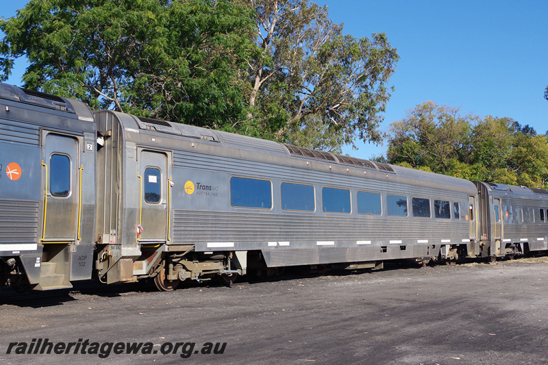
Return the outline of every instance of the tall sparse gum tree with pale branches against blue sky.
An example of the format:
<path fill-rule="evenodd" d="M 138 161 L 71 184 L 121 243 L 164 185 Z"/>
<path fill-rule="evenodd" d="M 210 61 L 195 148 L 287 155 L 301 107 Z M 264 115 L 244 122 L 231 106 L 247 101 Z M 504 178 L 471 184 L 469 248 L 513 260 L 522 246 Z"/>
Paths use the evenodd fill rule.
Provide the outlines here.
<path fill-rule="evenodd" d="M 249 3 L 262 50 L 249 62 L 249 117 L 278 140 L 310 148 L 338 151 L 357 138 L 380 142 L 386 83 L 398 60 L 386 36 L 345 36 L 327 7 L 308 0 Z M 279 117 L 272 118 L 272 105 L 282 107 Z"/>

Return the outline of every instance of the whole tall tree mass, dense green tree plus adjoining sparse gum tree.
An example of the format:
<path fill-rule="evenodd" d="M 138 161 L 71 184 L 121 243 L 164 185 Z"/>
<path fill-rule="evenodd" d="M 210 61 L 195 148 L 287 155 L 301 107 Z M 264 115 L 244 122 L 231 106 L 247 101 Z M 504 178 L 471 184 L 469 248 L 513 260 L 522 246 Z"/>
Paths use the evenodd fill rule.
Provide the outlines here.
<path fill-rule="evenodd" d="M 308 0 L 30 0 L 0 20 L 0 73 L 113 109 L 338 151 L 379 142 L 398 59 Z"/>

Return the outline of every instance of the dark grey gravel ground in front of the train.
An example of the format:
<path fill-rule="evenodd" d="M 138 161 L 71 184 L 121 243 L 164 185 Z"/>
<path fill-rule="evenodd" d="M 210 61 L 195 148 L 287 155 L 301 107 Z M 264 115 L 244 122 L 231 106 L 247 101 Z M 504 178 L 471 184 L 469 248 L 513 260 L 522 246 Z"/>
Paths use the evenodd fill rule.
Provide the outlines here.
<path fill-rule="evenodd" d="M 204 282 L 175 292 L 84 283 L 14 299 L 5 290 L 0 363 L 548 364 L 547 289 L 548 258 L 540 257 L 391 264 L 230 288 Z M 40 338 L 80 348 L 29 354 Z M 88 353 L 92 342 L 102 351 Z M 140 353 L 116 354 L 117 342 L 145 344 Z M 173 351 L 163 355 L 167 342 Z M 219 352 L 224 342 L 223 353 L 208 345 L 219 343 Z"/>

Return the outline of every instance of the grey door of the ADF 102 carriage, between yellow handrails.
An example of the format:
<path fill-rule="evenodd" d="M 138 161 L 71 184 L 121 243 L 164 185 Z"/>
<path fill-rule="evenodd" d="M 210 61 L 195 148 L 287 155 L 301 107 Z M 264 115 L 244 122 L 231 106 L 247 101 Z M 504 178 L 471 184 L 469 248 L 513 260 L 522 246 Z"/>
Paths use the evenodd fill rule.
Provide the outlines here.
<path fill-rule="evenodd" d="M 79 210 L 78 140 L 45 132 L 45 243 L 76 240 Z"/>

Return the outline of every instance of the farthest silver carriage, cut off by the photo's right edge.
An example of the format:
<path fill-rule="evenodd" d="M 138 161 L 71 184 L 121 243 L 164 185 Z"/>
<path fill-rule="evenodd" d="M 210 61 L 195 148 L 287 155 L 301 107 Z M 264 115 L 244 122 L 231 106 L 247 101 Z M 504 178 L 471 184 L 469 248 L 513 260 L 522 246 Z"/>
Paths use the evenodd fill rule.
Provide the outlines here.
<path fill-rule="evenodd" d="M 476 182 L 484 255 L 521 255 L 548 249 L 548 190 Z"/>

